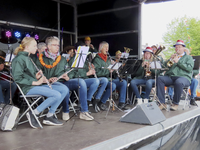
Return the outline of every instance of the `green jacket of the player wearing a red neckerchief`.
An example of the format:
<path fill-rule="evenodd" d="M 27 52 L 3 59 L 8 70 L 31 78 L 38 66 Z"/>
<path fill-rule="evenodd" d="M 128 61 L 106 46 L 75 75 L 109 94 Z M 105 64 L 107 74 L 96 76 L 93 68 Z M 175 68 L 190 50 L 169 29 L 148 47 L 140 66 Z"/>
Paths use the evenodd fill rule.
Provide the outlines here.
<path fill-rule="evenodd" d="M 95 66 L 95 71 L 97 77 L 107 77 L 110 76 L 110 71 L 106 69 L 110 64 L 110 59 L 108 58 L 105 62 L 98 54 L 92 60 L 93 65 Z"/>

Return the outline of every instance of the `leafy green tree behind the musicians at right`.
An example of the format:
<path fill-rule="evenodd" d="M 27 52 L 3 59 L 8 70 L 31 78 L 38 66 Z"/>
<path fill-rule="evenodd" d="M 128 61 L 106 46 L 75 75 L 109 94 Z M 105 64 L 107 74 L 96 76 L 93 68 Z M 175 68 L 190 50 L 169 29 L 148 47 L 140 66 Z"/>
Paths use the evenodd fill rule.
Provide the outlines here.
<path fill-rule="evenodd" d="M 183 40 L 190 49 L 191 55 L 200 55 L 200 20 L 196 18 L 175 18 L 167 25 L 167 33 L 163 35 L 164 45 L 167 47 L 163 53 L 169 58 L 175 53 L 173 45 L 177 40 Z"/>

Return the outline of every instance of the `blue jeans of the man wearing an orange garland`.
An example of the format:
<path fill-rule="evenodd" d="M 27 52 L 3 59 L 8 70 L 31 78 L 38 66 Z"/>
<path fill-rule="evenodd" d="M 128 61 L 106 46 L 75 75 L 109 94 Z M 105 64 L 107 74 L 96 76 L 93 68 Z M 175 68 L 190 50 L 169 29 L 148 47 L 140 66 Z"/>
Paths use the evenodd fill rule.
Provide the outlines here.
<path fill-rule="evenodd" d="M 81 104 L 81 112 L 87 112 L 88 111 L 88 105 L 87 105 L 87 85 L 85 81 L 81 78 L 75 78 L 70 79 L 68 81 L 64 81 L 63 84 L 65 84 L 70 91 L 76 91 L 79 95 L 79 102 Z M 69 96 L 65 97 L 65 100 L 63 101 L 63 112 L 68 113 L 69 112 Z"/>

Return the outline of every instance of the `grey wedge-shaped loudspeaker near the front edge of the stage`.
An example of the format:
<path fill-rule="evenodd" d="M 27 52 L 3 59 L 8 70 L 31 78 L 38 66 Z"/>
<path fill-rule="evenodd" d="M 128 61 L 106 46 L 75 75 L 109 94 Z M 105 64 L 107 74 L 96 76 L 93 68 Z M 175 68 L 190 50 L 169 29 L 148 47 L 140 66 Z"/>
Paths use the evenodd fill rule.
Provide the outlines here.
<path fill-rule="evenodd" d="M 121 122 L 154 125 L 166 120 L 155 102 L 137 105 L 120 118 Z"/>

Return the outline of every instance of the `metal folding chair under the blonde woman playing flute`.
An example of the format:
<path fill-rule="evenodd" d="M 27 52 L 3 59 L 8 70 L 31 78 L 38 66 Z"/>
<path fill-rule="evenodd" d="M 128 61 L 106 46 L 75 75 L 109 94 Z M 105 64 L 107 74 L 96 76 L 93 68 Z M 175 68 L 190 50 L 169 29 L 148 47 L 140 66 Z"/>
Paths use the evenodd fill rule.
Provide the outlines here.
<path fill-rule="evenodd" d="M 40 128 L 43 128 L 42 125 L 41 125 L 41 123 L 40 123 L 40 121 L 36 117 L 36 115 L 35 115 L 35 113 L 33 111 L 33 108 L 38 105 L 37 103 L 38 103 L 39 100 L 41 100 L 41 99 L 45 100 L 44 96 L 42 96 L 42 95 L 24 95 L 24 93 L 22 92 L 20 86 L 17 83 L 16 83 L 16 85 L 17 85 L 17 87 L 18 87 L 18 89 L 19 89 L 19 91 L 21 93 L 20 98 L 23 98 L 24 102 L 28 106 L 28 108 L 20 115 L 18 125 L 23 124 L 25 122 L 28 122 L 28 120 L 21 121 L 21 122 L 20 122 L 20 120 L 30 110 L 32 112 L 33 116 L 35 117 L 36 121 L 38 122 Z"/>

